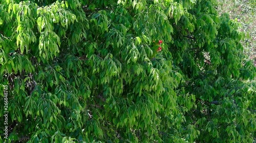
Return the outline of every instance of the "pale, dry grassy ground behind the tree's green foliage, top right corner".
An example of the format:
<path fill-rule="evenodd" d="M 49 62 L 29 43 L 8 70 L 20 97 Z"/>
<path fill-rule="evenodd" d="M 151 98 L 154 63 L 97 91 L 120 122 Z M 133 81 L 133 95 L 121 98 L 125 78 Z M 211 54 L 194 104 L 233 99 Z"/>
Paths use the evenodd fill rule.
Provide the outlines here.
<path fill-rule="evenodd" d="M 230 18 L 239 23 L 239 30 L 245 33 L 244 52 L 256 66 L 256 1 L 218 0 L 218 3 L 220 14 L 229 13 Z"/>

